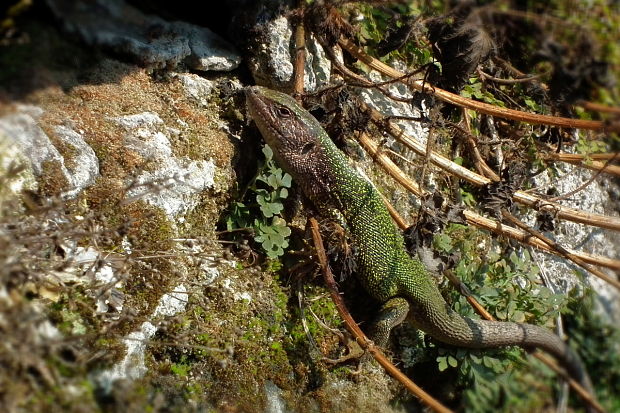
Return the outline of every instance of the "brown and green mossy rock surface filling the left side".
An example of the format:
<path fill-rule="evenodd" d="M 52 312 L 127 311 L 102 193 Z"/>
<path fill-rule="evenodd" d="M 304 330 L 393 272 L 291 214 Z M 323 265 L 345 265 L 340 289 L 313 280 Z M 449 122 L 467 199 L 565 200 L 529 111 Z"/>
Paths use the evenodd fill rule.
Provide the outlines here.
<path fill-rule="evenodd" d="M 258 140 L 245 131 L 236 109 L 241 103 L 214 93 L 199 106 L 176 76 L 119 62 L 68 41 L 45 19 L 31 19 L 21 26 L 30 42 L 0 56 L 12 62 L 1 74 L 10 82 L 2 81 L 8 86 L 0 88 L 0 114 L 19 110 L 14 103 L 41 107 L 38 124 L 65 165 L 75 166 L 77 154 L 55 135 L 58 125 L 79 131 L 96 154 L 100 176 L 64 201 L 58 195 L 68 182 L 58 162 L 43 165 L 39 189 L 27 196 L 0 187 L 0 218 L 19 222 L 18 231 L 0 222 L 10 228 L 0 232 L 6 264 L 0 283 L 10 297 L 0 300 L 0 309 L 11 320 L 0 332 L 13 346 L 0 356 L 0 376 L 13 377 L 0 379 L 8 411 L 260 412 L 274 397 L 296 411 L 326 411 L 364 406 L 357 390 L 373 386 L 381 389 L 376 400 L 387 400 L 385 378 L 358 386 L 348 367 L 322 362 L 342 347 L 326 327 L 340 322 L 320 287 L 306 290 L 313 299 L 302 311 L 288 276 L 269 269 L 281 263 L 261 269 L 232 261 L 218 240 L 217 223 L 239 190 L 237 174 L 253 173 L 239 162 L 257 164 L 221 127 L 226 121 Z M 126 144 L 128 132 L 113 119 L 144 112 L 163 120 L 158 131 L 175 157 L 215 164 L 214 185 L 195 195 L 196 206 L 184 216 L 127 200 L 135 176 L 157 164 Z M 2 179 L 15 178 L 4 172 Z M 97 258 L 77 265 L 75 248 L 93 249 Z M 98 279 L 104 267 L 115 278 Z M 153 317 L 162 297 L 179 286 L 187 291 L 184 309 Z M 119 294 L 122 305 L 115 302 Z M 107 311 L 97 311 L 102 303 Z M 146 374 L 104 389 L 99 375 L 119 365 L 127 335 L 146 322 L 157 329 L 145 343 Z"/>

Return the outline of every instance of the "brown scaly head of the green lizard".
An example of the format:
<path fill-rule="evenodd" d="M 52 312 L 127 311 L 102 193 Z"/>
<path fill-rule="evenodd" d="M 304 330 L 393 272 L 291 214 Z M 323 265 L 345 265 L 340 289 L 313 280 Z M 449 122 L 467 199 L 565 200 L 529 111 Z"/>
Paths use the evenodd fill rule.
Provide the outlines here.
<path fill-rule="evenodd" d="M 317 166 L 324 165 L 319 122 L 292 97 L 260 86 L 245 89 L 250 116 L 273 149 L 281 167 L 294 178 L 320 181 Z"/>

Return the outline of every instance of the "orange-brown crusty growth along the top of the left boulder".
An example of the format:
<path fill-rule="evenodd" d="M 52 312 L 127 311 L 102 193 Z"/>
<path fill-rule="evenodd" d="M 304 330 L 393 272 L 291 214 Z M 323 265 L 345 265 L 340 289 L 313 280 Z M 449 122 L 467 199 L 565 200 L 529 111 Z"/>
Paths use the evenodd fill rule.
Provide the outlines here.
<path fill-rule="evenodd" d="M 87 77 L 96 82 L 75 86 L 67 93 L 47 87 L 32 97 L 46 109 L 43 125 L 70 121 L 83 133 L 100 159 L 102 175 L 122 176 L 144 167 L 143 160 L 124 147 L 125 131 L 110 121 L 143 112 L 156 113 L 165 127 L 178 131 L 166 134 L 175 155 L 193 160 L 212 158 L 221 168 L 230 165 L 234 146 L 215 121 L 219 109 L 198 107 L 175 79 L 154 82 L 145 70 L 107 60 Z"/>

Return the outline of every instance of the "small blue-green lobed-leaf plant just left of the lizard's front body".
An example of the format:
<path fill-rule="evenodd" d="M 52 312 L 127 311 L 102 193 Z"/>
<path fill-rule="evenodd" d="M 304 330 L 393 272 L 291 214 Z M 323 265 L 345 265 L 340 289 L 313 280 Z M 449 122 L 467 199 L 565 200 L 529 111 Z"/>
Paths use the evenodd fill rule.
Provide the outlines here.
<path fill-rule="evenodd" d="M 246 204 L 243 199 L 235 202 L 226 219 L 226 229 L 252 229 L 254 241 L 261 245 L 265 254 L 269 258 L 278 258 L 288 247 L 288 237 L 291 235 L 291 229 L 281 213 L 292 178 L 276 166 L 273 151 L 268 145 L 263 147 L 263 154 L 265 163 L 243 197 L 252 199 L 252 203 Z"/>

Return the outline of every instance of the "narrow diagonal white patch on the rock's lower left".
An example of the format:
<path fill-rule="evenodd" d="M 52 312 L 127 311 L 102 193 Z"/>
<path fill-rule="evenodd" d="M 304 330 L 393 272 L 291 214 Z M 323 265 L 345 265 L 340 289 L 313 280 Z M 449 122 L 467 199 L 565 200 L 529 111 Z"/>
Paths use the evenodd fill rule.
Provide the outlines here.
<path fill-rule="evenodd" d="M 183 284 L 177 285 L 171 293 L 164 294 L 159 300 L 151 317 L 169 317 L 185 310 L 189 294 Z M 147 372 L 145 352 L 150 340 L 157 332 L 157 327 L 150 321 L 145 321 L 138 331 L 129 333 L 123 338 L 127 347 L 125 357 L 110 370 L 97 375 L 97 382 L 104 392 L 110 392 L 115 381 L 119 379 L 136 380 Z"/>

